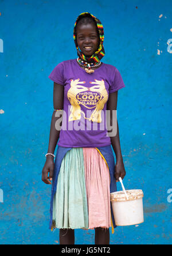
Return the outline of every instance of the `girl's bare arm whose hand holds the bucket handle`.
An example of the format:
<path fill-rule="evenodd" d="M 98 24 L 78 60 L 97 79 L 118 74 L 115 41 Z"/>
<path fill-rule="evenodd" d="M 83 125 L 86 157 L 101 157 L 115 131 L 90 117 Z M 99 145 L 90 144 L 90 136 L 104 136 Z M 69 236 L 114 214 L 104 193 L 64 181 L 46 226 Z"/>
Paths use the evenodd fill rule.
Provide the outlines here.
<path fill-rule="evenodd" d="M 115 165 L 115 179 L 118 182 L 119 177 L 122 179 L 126 175 L 126 170 L 124 168 L 124 163 L 123 163 L 123 157 L 122 157 L 122 152 L 120 148 L 120 140 L 119 140 L 119 127 L 118 127 L 118 121 L 116 118 L 116 114 L 114 114 L 112 110 L 117 110 L 117 101 L 118 101 L 118 91 L 112 92 L 109 95 L 108 101 L 107 101 L 107 110 L 110 110 L 110 120 L 107 118 L 107 124 L 109 122 L 109 125 L 112 127 L 112 124 L 115 123 L 115 127 L 112 127 L 112 130 L 114 129 L 116 131 L 116 134 L 112 134 L 111 136 L 111 131 L 109 137 L 111 138 L 111 144 L 112 148 L 114 149 L 115 156 L 116 156 L 116 165 Z"/>

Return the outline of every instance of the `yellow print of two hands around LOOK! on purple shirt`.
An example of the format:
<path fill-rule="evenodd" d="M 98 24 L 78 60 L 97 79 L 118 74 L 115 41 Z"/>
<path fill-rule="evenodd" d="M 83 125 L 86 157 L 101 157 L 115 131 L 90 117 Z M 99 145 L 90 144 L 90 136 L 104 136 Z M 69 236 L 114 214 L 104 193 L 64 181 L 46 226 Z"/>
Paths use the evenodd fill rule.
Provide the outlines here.
<path fill-rule="evenodd" d="M 90 88 L 82 85 L 85 84 L 85 81 L 79 82 L 79 80 L 79 78 L 71 80 L 71 88 L 67 94 L 71 103 L 69 121 L 80 120 L 82 112 L 85 119 L 101 123 L 101 110 L 103 110 L 104 104 L 108 100 L 108 93 L 105 89 L 104 80 L 95 79 L 95 82 L 90 81 L 90 84 L 95 84 Z M 89 118 L 85 117 L 85 113 L 80 107 L 81 104 L 89 110 L 95 108 Z"/>

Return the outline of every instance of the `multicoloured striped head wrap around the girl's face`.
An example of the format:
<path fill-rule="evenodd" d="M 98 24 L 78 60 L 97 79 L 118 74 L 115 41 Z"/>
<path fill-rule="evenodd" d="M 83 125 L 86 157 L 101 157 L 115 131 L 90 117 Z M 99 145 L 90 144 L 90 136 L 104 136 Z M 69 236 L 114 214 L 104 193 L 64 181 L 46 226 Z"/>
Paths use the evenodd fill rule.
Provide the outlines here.
<path fill-rule="evenodd" d="M 99 48 L 97 51 L 95 51 L 93 53 L 93 55 L 91 57 L 86 57 L 83 52 L 81 52 L 79 50 L 79 47 L 77 45 L 77 40 L 76 40 L 76 24 L 77 24 L 77 21 L 79 19 L 80 16 L 85 16 L 86 13 L 81 13 L 77 19 L 76 19 L 76 22 L 75 22 L 75 26 L 74 26 L 74 29 L 73 29 L 73 39 L 74 39 L 74 42 L 75 42 L 75 46 L 76 46 L 76 50 L 77 50 L 77 55 L 79 56 L 79 58 L 81 59 L 81 61 L 84 61 L 84 62 L 93 62 L 93 63 L 97 63 L 100 61 L 101 58 L 103 58 L 103 56 L 105 55 L 105 51 L 104 51 L 104 47 L 103 47 L 103 40 L 104 40 L 104 29 L 103 29 L 103 25 L 101 24 L 101 21 L 96 18 L 95 16 L 93 16 L 91 13 L 88 13 L 95 21 L 96 21 L 96 24 L 97 24 L 97 28 L 98 28 L 98 31 L 99 31 L 99 36 L 100 36 L 100 45 L 99 45 Z"/>

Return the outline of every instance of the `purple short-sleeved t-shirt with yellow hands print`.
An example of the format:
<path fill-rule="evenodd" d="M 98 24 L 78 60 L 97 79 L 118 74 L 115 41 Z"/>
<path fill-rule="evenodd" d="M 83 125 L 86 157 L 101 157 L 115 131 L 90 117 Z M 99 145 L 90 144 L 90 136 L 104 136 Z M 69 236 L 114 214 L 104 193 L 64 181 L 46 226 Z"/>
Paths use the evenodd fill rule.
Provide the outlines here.
<path fill-rule="evenodd" d="M 57 145 L 65 148 L 111 145 L 105 110 L 109 93 L 125 87 L 118 69 L 102 63 L 94 73 L 88 74 L 76 59 L 69 59 L 60 62 L 49 78 L 64 86 L 62 126 Z"/>

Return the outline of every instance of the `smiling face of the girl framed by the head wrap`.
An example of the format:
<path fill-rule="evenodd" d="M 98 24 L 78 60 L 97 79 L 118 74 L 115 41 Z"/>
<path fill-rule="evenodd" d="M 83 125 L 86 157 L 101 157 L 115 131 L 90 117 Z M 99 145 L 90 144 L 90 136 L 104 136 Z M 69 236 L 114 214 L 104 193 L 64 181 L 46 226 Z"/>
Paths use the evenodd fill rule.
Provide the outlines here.
<path fill-rule="evenodd" d="M 77 45 L 81 52 L 87 57 L 91 57 L 100 45 L 100 37 L 97 34 L 96 25 L 78 24 L 77 25 Z"/>

